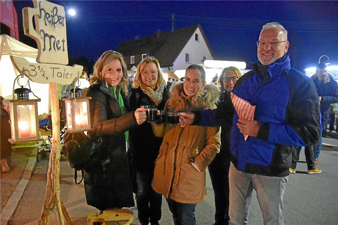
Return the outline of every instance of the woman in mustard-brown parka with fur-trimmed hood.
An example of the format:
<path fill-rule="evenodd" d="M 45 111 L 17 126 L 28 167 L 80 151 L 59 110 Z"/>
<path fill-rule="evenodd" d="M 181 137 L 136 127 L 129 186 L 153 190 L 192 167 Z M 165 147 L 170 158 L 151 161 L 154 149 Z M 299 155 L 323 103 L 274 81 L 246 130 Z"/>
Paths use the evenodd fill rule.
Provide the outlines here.
<path fill-rule="evenodd" d="M 183 83 L 172 87 L 165 109 L 175 113 L 215 109 L 219 90 L 215 84 L 206 85 L 205 78 L 202 66 L 188 66 Z M 153 124 L 153 131 L 163 142 L 152 187 L 166 198 L 174 224 L 194 225 L 196 204 L 207 194 L 206 167 L 220 148 L 220 129 L 166 123 Z"/>

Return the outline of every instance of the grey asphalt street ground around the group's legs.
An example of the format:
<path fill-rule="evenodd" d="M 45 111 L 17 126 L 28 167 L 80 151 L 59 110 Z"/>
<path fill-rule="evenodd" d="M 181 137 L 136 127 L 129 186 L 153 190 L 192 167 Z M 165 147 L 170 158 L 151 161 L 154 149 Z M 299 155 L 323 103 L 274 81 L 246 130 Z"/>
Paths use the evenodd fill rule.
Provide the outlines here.
<path fill-rule="evenodd" d="M 289 175 L 284 195 L 283 214 L 285 224 L 338 224 L 338 148 L 336 147 L 338 146 L 338 140 L 324 138 L 323 142 L 330 143 L 328 145 L 332 146 L 323 146 L 320 152 L 318 167 L 323 170 L 321 174 L 309 175 L 306 173 L 307 167 L 304 150 L 302 150 L 296 173 Z M 27 154 L 33 153 L 27 152 Z M 28 225 L 38 223 L 46 192 L 48 157 L 49 154 L 43 157 L 41 162 L 36 163 L 22 198 L 8 224 Z M 80 185 L 74 183 L 74 171 L 63 156 L 60 167 L 61 200 L 64 202 L 74 225 L 86 224 L 87 215 L 96 214 L 98 210 L 86 204 L 83 182 Z M 1 176 L 1 189 L 3 189 L 3 185 L 6 182 L 9 182 L 6 176 Z M 211 225 L 214 222 L 214 193 L 208 172 L 206 189 L 208 195 L 196 207 L 196 220 L 199 225 Z M 1 190 L 1 195 L 3 193 L 6 192 Z M 3 202 L 1 206 L 2 210 Z M 133 207 L 131 210 L 134 212 L 132 224 L 138 225 L 137 208 Z M 3 212 L 1 212 L 1 216 L 2 214 Z M 255 196 L 251 203 L 248 223 L 263 224 L 261 211 Z M 56 207 L 51 215 L 50 224 L 58 224 Z M 165 199 L 163 199 L 162 203 L 160 224 L 173 224 Z"/>

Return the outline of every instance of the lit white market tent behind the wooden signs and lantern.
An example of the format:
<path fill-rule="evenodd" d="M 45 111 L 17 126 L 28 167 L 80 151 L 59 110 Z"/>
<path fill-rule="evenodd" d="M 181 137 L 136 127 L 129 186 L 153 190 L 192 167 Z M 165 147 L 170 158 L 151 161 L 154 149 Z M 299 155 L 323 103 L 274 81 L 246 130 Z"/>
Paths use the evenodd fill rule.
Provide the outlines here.
<path fill-rule="evenodd" d="M 29 62 L 36 62 L 38 49 L 32 48 L 6 34 L 0 35 L 0 43 L 0 94 L 4 99 L 13 99 L 13 82 L 20 73 L 11 62 L 10 56 L 24 57 Z M 24 79 L 19 79 L 19 83 L 21 80 L 22 85 L 25 85 L 26 81 Z M 38 102 L 38 114 L 50 114 L 49 85 L 34 83 L 32 81 L 29 83 L 31 90 L 41 99 L 41 102 Z M 16 83 L 15 89 L 19 87 L 20 86 Z M 29 88 L 28 85 L 25 87 Z M 35 96 L 30 93 L 29 98 L 35 99 Z"/>

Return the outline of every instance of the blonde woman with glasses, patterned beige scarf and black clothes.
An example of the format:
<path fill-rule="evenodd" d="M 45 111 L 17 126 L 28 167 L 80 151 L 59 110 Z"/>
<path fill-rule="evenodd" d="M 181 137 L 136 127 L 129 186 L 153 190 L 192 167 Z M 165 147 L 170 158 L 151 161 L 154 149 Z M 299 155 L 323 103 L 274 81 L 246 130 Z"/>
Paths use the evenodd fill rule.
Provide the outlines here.
<path fill-rule="evenodd" d="M 163 110 L 168 100 L 168 89 L 159 62 L 154 57 L 146 57 L 137 66 L 135 80 L 129 91 L 131 110 L 149 106 Z M 137 190 L 136 205 L 141 225 L 159 224 L 161 219 L 162 195 L 151 188 L 154 161 L 159 153 L 162 138 L 155 137 L 151 123 L 145 122 L 130 131 L 130 153 Z"/>

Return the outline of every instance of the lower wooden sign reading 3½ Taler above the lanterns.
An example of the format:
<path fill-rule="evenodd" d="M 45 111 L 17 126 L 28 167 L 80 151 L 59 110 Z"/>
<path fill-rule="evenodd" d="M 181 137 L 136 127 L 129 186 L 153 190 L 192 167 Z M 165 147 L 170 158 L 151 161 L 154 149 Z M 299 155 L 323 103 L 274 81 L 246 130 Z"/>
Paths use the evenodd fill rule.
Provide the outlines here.
<path fill-rule="evenodd" d="M 10 59 L 20 73 L 24 73 L 28 77 L 28 72 L 24 71 L 24 69 L 27 69 L 30 73 L 30 80 L 41 84 L 49 84 L 51 82 L 71 84 L 75 78 L 81 75 L 83 69 L 83 66 L 76 64 L 65 66 L 50 63 L 32 63 L 19 56 L 10 56 Z"/>

